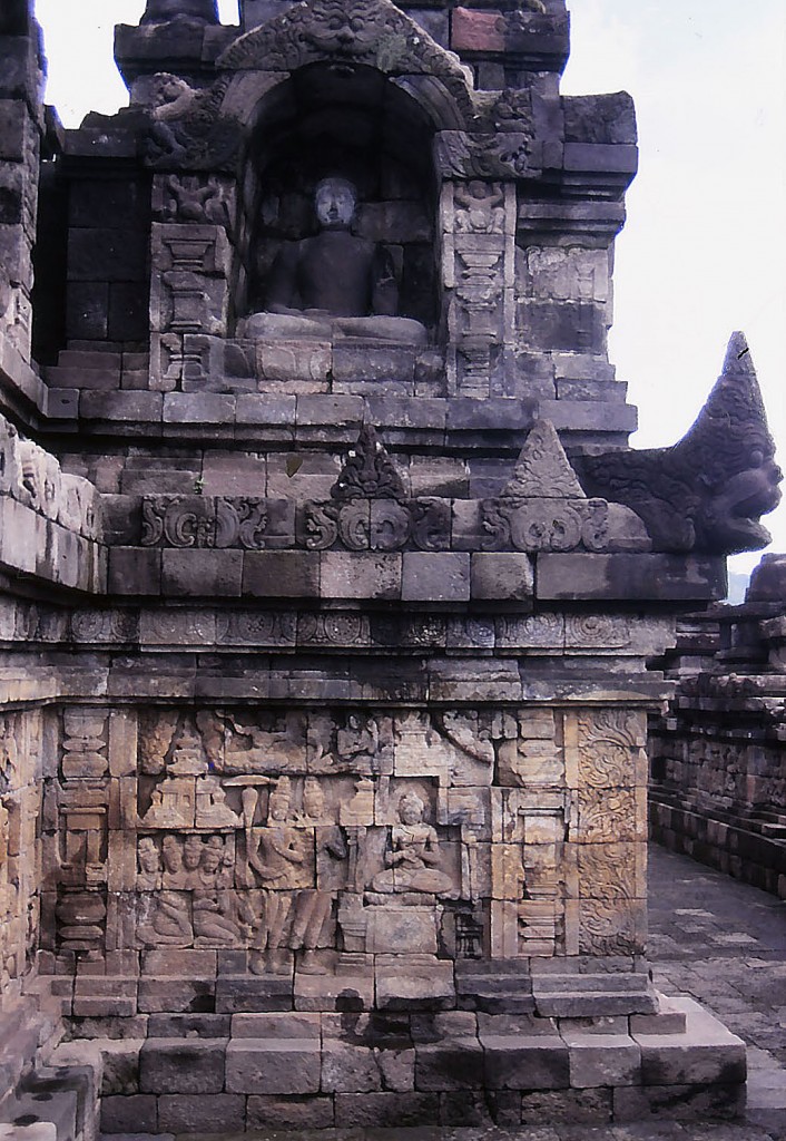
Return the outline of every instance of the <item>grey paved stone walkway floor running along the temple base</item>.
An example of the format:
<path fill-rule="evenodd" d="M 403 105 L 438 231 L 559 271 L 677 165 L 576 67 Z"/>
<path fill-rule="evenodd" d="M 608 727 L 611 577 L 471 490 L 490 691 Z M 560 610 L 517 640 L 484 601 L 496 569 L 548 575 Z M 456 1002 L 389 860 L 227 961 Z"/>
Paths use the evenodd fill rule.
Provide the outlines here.
<path fill-rule="evenodd" d="M 786 901 L 650 844 L 649 922 L 658 989 L 697 998 L 747 1043 L 744 1122 L 259 1132 L 221 1141 L 786 1141 Z"/>

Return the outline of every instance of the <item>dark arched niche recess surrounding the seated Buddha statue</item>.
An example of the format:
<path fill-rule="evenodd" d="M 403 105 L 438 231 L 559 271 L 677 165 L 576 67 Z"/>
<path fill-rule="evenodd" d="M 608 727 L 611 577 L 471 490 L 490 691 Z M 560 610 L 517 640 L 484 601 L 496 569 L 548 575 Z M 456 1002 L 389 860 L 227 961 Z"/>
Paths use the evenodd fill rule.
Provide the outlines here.
<path fill-rule="evenodd" d="M 314 188 L 341 175 L 358 189 L 356 232 L 380 243 L 396 267 L 399 315 L 433 327 L 437 127 L 411 94 L 421 78 L 412 76 L 414 86 L 408 79 L 364 64 L 317 62 L 259 100 L 241 186 L 237 316 L 265 308 L 278 249 L 316 233 Z"/>

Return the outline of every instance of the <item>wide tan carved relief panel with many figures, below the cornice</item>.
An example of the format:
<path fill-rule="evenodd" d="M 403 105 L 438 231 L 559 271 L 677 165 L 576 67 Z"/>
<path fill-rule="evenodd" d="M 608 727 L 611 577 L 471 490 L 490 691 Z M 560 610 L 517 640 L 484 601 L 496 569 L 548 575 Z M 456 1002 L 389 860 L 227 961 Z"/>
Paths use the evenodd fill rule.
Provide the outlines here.
<path fill-rule="evenodd" d="M 289 974 L 639 946 L 638 711 L 70 706 L 60 727 L 57 969 L 168 947 Z"/>

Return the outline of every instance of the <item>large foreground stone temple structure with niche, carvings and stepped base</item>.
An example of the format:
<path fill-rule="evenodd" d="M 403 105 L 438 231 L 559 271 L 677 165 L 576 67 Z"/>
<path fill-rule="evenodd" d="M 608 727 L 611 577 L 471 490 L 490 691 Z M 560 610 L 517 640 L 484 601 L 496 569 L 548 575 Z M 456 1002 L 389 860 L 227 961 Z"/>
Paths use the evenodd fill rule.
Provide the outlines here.
<path fill-rule="evenodd" d="M 778 501 L 744 338 L 627 447 L 635 122 L 562 0 L 243 9 L 148 0 L 73 131 L 0 24 L 0 1118 L 731 1115 L 646 747 Z"/>

